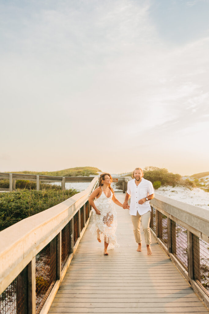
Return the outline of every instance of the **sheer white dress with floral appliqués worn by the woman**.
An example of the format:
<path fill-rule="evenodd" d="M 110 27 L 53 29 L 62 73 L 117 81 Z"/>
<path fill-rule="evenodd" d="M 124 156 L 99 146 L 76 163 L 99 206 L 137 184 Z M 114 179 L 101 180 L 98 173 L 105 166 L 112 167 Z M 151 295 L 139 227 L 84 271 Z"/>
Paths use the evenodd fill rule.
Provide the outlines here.
<path fill-rule="evenodd" d="M 110 191 L 111 192 L 111 191 Z M 101 215 L 97 215 L 95 210 L 93 211 L 93 225 L 91 226 L 91 232 L 101 241 L 106 241 L 109 243 L 108 249 L 114 249 L 118 247 L 116 241 L 115 231 L 117 228 L 117 212 L 115 209 L 115 204 L 112 201 L 111 196 L 107 198 L 102 190 L 102 194 L 99 198 L 95 200 L 95 206 L 101 212 Z"/>

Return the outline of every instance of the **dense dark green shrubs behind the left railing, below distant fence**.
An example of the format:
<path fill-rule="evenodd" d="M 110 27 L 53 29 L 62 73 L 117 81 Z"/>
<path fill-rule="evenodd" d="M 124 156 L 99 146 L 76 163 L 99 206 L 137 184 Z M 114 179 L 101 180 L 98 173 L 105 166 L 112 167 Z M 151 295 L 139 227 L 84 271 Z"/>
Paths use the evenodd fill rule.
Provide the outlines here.
<path fill-rule="evenodd" d="M 74 194 L 76 190 L 19 190 L 0 193 L 0 231 L 16 222 L 55 206 Z"/>

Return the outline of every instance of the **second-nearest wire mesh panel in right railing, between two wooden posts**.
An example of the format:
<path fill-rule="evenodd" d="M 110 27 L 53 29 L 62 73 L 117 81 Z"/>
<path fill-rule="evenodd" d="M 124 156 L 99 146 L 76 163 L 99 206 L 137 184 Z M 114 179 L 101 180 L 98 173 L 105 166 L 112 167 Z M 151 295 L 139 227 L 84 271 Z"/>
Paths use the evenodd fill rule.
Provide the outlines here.
<path fill-rule="evenodd" d="M 171 227 L 171 253 L 179 263 L 188 271 L 187 256 L 187 230 L 175 221 L 170 221 Z"/>

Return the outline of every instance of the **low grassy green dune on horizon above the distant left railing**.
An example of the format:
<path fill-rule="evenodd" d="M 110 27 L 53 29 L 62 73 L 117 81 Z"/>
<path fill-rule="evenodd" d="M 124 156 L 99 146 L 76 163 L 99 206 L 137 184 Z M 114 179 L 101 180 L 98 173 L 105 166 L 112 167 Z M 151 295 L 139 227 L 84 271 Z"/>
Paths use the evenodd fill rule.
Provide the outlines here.
<path fill-rule="evenodd" d="M 93 176 L 98 175 L 98 171 L 101 172 L 98 168 L 95 167 L 75 167 L 69 168 L 59 171 L 42 171 L 42 172 L 35 172 L 35 171 L 9 171 L 13 173 L 27 173 L 33 175 L 42 175 L 42 176 Z"/>

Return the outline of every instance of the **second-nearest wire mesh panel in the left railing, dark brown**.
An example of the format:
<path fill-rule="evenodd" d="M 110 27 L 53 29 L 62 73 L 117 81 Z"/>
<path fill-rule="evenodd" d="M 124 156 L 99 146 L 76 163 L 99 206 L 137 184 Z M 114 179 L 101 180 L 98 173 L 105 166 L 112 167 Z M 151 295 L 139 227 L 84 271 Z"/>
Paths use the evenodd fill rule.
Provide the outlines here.
<path fill-rule="evenodd" d="M 36 255 L 36 314 L 42 309 L 56 282 L 57 237 Z"/>

